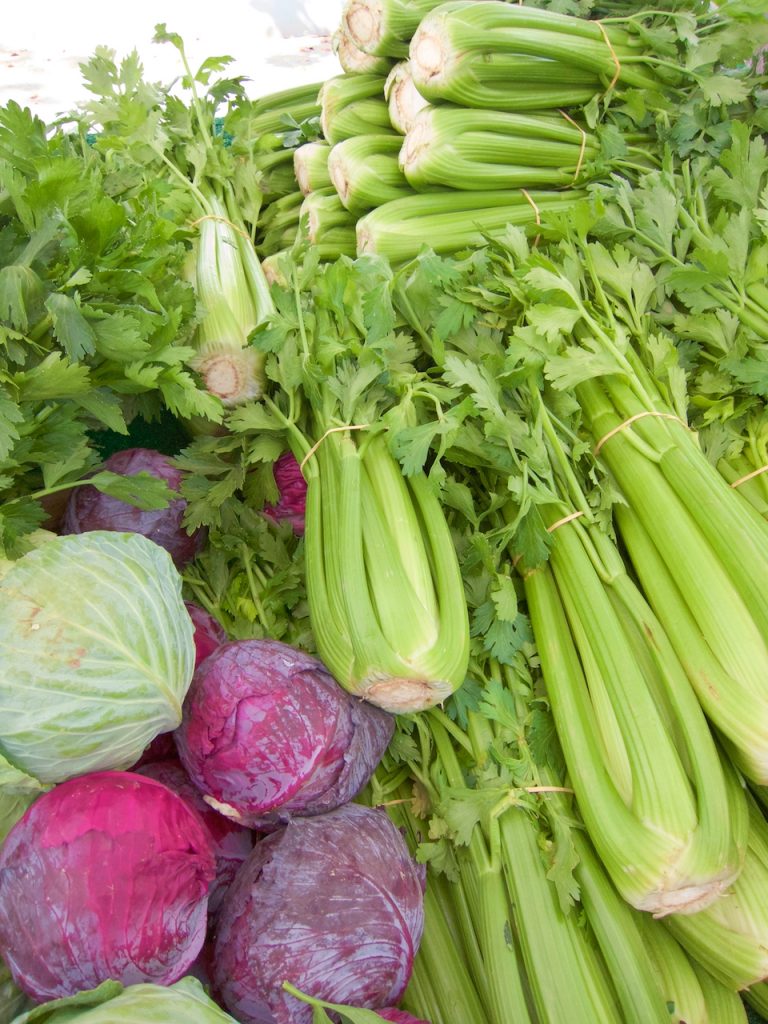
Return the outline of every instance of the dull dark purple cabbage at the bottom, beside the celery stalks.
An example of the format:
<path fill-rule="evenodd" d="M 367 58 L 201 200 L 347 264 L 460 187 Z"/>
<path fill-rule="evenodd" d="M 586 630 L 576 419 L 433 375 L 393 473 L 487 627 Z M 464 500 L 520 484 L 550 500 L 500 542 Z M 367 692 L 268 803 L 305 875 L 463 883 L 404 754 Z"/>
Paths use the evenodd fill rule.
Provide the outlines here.
<path fill-rule="evenodd" d="M 242 1024 L 311 1024 L 290 981 L 375 1009 L 402 995 L 424 927 L 424 868 L 384 811 L 347 804 L 262 839 L 219 911 L 213 981 Z"/>

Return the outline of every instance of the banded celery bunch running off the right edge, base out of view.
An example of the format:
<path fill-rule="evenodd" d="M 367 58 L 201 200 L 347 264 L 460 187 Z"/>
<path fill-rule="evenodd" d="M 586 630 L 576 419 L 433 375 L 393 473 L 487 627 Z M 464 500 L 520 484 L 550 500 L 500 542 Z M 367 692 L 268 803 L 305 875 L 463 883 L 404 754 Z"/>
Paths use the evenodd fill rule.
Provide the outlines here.
<path fill-rule="evenodd" d="M 518 347 L 541 353 L 554 394 L 575 396 L 593 454 L 627 502 L 616 521 L 649 604 L 737 766 L 765 781 L 768 524 L 680 422 L 684 379 L 647 315 L 650 270 L 621 246 L 560 227 L 556 254 L 522 247 Z"/>

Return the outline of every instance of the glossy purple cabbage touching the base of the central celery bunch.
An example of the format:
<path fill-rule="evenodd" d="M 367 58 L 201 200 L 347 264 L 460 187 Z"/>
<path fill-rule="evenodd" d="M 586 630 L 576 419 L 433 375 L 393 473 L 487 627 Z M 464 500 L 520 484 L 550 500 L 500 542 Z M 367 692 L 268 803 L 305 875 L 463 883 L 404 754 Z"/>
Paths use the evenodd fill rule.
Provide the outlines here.
<path fill-rule="evenodd" d="M 176 746 L 206 801 L 268 830 L 351 800 L 393 728 L 316 658 L 276 640 L 240 640 L 195 673 Z"/>

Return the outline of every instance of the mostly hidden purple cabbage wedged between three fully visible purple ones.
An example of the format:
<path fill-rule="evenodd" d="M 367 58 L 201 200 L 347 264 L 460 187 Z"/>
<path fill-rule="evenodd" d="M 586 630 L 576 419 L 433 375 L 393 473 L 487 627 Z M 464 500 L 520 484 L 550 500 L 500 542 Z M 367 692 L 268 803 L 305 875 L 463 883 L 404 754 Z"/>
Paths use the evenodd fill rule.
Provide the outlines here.
<path fill-rule="evenodd" d="M 216 878 L 208 892 L 208 912 L 215 914 L 224 898 L 224 893 L 238 873 L 238 868 L 253 849 L 253 834 L 230 818 L 225 818 L 218 811 L 214 811 L 203 800 L 202 794 L 178 761 L 157 761 L 155 764 L 142 765 L 139 774 L 157 779 L 169 790 L 173 790 L 203 818 L 216 858 Z"/>

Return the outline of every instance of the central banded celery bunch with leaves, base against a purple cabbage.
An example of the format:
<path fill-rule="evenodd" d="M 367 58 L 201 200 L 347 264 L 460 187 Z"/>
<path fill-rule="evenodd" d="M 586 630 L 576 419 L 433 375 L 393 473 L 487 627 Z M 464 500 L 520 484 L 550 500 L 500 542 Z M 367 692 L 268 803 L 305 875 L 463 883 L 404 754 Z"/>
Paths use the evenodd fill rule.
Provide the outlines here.
<path fill-rule="evenodd" d="M 311 291 L 289 289 L 257 341 L 279 350 L 282 394 L 268 406 L 307 479 L 306 582 L 317 651 L 350 692 L 390 711 L 418 711 L 463 683 L 469 633 L 437 495 L 424 474 L 403 476 L 381 422 L 409 348 L 391 347 L 382 333 L 383 265 L 312 263 L 305 273 Z M 342 294 L 340 279 L 350 286 Z"/>

